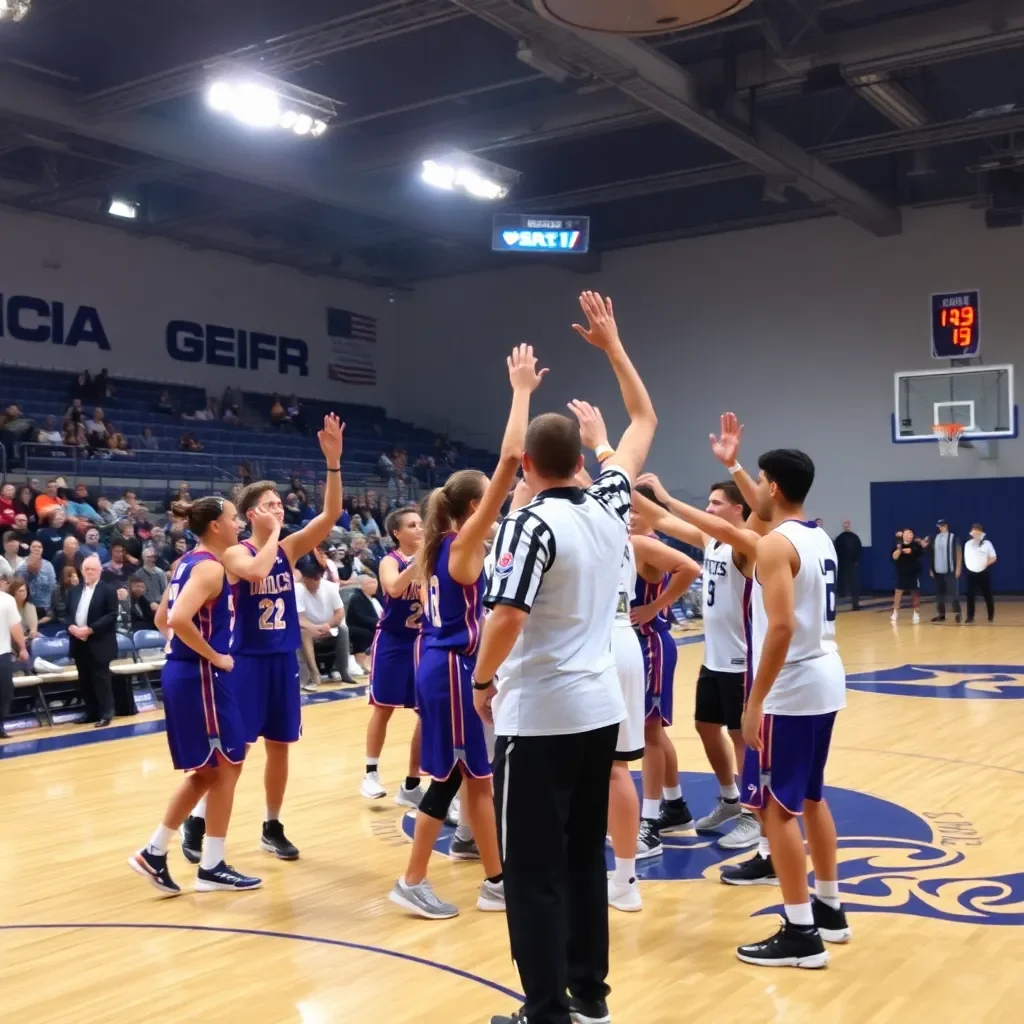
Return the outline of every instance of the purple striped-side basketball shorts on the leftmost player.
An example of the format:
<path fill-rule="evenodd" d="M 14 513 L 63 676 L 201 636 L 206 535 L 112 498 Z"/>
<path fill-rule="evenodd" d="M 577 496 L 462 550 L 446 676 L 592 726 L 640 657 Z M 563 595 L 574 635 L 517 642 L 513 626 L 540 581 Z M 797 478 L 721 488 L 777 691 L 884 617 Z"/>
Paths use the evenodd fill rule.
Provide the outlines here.
<path fill-rule="evenodd" d="M 226 673 L 209 662 L 167 662 L 161 673 L 167 745 L 180 771 L 211 763 L 214 751 L 231 764 L 246 757 L 246 729 Z"/>

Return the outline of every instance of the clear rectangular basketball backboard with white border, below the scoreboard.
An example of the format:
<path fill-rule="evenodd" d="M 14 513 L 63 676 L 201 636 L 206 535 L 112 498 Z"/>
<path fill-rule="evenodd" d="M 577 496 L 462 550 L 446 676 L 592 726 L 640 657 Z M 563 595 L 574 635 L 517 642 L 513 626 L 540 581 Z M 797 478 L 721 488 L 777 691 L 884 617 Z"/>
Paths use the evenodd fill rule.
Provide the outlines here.
<path fill-rule="evenodd" d="M 894 374 L 893 442 L 934 441 L 939 423 L 959 423 L 965 439 L 1017 436 L 1014 368 L 949 367 Z"/>

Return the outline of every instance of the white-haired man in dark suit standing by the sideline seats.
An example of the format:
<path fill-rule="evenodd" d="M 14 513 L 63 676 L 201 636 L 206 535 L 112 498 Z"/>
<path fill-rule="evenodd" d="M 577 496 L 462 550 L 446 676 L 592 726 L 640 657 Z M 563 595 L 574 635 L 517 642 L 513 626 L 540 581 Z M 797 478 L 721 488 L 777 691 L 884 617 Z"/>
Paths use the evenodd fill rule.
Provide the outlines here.
<path fill-rule="evenodd" d="M 101 574 L 95 555 L 82 562 L 82 583 L 69 595 L 65 616 L 78 684 L 97 729 L 114 720 L 111 662 L 118 656 L 118 594 Z"/>

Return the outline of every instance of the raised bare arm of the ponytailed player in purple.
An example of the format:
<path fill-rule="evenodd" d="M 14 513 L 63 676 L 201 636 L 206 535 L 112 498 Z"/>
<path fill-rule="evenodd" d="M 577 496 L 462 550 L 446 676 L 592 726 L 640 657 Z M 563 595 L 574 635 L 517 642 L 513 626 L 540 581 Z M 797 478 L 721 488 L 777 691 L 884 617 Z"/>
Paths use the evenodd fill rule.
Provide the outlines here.
<path fill-rule="evenodd" d="M 512 349 L 507 359 L 509 381 L 512 384 L 512 408 L 509 410 L 502 451 L 490 481 L 487 483 L 476 511 L 466 520 L 459 536 L 449 550 L 449 571 L 457 582 L 469 585 L 476 581 L 483 569 L 483 542 L 494 526 L 502 503 L 515 481 L 515 474 L 526 446 L 526 427 L 529 423 L 529 396 L 547 370 L 538 371 L 532 345 L 519 345 Z"/>

